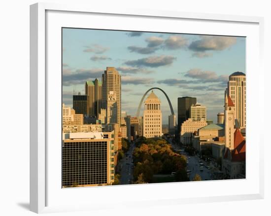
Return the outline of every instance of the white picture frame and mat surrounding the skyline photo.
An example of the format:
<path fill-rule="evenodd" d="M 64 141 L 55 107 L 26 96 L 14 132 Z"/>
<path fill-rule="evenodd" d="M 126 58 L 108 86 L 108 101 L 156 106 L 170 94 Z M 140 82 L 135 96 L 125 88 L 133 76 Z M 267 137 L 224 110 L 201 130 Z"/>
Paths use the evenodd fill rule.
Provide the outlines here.
<path fill-rule="evenodd" d="M 52 13 L 51 13 L 52 12 Z M 247 44 L 247 52 L 255 51 L 253 55 L 247 55 L 247 69 L 248 71 L 257 70 L 257 76 L 254 73 L 248 72 L 247 76 L 247 106 L 249 110 L 248 113 L 248 122 L 256 123 L 256 121 L 261 124 L 263 122 L 264 116 L 259 116 L 258 119 L 254 116 L 258 109 L 255 105 L 252 104 L 252 98 L 257 98 L 257 100 L 261 100 L 264 102 L 264 86 L 260 84 L 260 76 L 263 77 L 263 23 L 264 20 L 262 17 L 249 17 L 249 16 L 237 16 L 237 15 L 222 15 L 222 14 L 204 14 L 204 13 L 188 13 L 188 12 L 180 12 L 180 11 L 154 11 L 154 10 L 143 10 L 143 9 L 123 9 L 120 8 L 118 10 L 112 11 L 110 8 L 96 8 L 92 5 L 64 5 L 64 4 L 53 4 L 53 3 L 36 3 L 30 6 L 30 210 L 35 213 L 50 213 L 50 212 L 59 212 L 59 211 L 80 211 L 80 210 L 94 210 L 104 208 L 104 204 L 106 204 L 107 208 L 114 208 L 117 205 L 126 205 L 126 206 L 135 206 L 135 205 L 144 205 L 144 206 L 153 206 L 153 205 L 178 205 L 179 203 L 201 203 L 201 202 L 217 202 L 217 201 L 233 201 L 233 200 L 248 200 L 248 199 L 262 199 L 264 197 L 264 153 L 263 153 L 263 145 L 264 141 L 261 139 L 256 139 L 259 135 L 261 135 L 261 131 L 257 129 L 255 124 L 249 124 L 247 128 L 247 134 L 250 131 L 255 131 L 252 135 L 247 135 L 248 140 L 255 145 L 248 146 L 247 154 L 248 158 L 255 158 L 254 164 L 251 159 L 247 161 L 247 171 L 251 171 L 253 169 L 253 176 L 250 175 L 252 172 L 247 172 L 246 180 L 224 180 L 224 181 L 208 181 L 208 182 L 193 182 L 194 188 L 200 187 L 230 187 L 232 184 L 236 184 L 238 189 L 241 185 L 245 185 L 244 188 L 237 190 L 236 193 L 233 191 L 228 191 L 222 194 L 219 192 L 213 191 L 213 193 L 206 193 L 201 191 L 198 195 L 185 194 L 184 185 L 189 186 L 189 182 L 187 183 L 162 183 L 162 184 L 145 184 L 145 185 L 120 185 L 120 186 L 106 186 L 106 187 L 94 187 L 92 189 L 92 193 L 98 194 L 101 193 L 103 195 L 116 193 L 116 191 L 128 191 L 133 192 L 135 194 L 134 200 L 126 200 L 125 198 L 118 197 L 114 202 L 110 203 L 107 200 L 102 200 L 102 197 L 97 196 L 96 203 L 91 199 L 84 199 L 85 202 L 79 200 L 75 202 L 72 201 L 73 205 L 66 203 L 65 205 L 65 197 L 70 194 L 70 197 L 76 196 L 77 192 L 80 191 L 82 193 L 88 193 L 90 188 L 70 188 L 62 189 L 65 191 L 64 195 L 54 194 L 56 200 L 64 200 L 62 203 L 57 203 L 52 198 L 52 188 L 59 186 L 61 190 L 61 185 L 53 185 L 54 184 L 54 175 L 48 175 L 50 172 L 52 174 L 57 172 L 57 170 L 51 171 L 53 168 L 51 166 L 52 162 L 48 162 L 48 154 L 52 151 L 52 147 L 48 148 L 48 141 L 52 139 L 57 139 L 57 136 L 53 136 L 50 131 L 52 131 L 53 126 L 49 127 L 52 121 L 49 120 L 48 116 L 51 116 L 51 105 L 52 103 L 48 103 L 51 98 L 53 98 L 52 87 L 59 85 L 57 82 L 53 82 L 51 79 L 52 76 L 48 76 L 48 70 L 54 68 L 54 64 L 48 64 L 48 60 L 50 61 L 50 53 L 51 48 L 48 46 L 48 42 L 51 38 L 52 31 L 54 28 L 59 28 L 62 26 L 62 20 L 67 22 L 68 19 L 63 19 L 63 14 L 60 15 L 58 13 L 63 13 L 66 18 L 70 16 L 68 14 L 73 14 L 76 16 L 87 16 L 88 14 L 92 14 L 93 16 L 97 15 L 99 17 L 107 17 L 107 16 L 116 16 L 116 19 L 125 20 L 125 19 L 150 19 L 155 24 L 155 20 L 166 19 L 167 22 L 170 20 L 173 22 L 178 21 L 189 21 L 189 22 L 201 22 L 204 25 L 220 25 L 220 22 L 225 25 L 239 25 L 243 26 L 244 31 L 242 29 L 236 28 L 236 36 L 247 36 L 249 38 L 257 38 L 254 40 L 254 44 L 249 42 Z M 51 17 L 51 18 L 50 18 Z M 54 19 L 53 27 L 52 20 Z M 78 18 L 80 19 L 80 18 Z M 141 21 L 137 21 L 139 24 Z M 156 21 L 158 22 L 158 21 Z M 83 22 L 80 22 L 80 25 L 84 25 Z M 101 21 L 102 24 L 102 21 Z M 70 25 L 79 25 L 79 20 L 72 19 L 72 24 Z M 106 25 L 106 24 L 105 24 Z M 123 27 L 122 27 L 123 25 Z M 127 24 L 126 24 L 127 25 Z M 155 25 L 154 25 L 155 26 Z M 67 25 L 65 25 L 67 27 Z M 135 29 L 131 29 L 135 28 Z M 145 27 L 130 27 L 127 29 L 125 27 L 125 21 L 123 23 L 119 23 L 119 26 L 114 29 L 122 29 L 122 30 L 136 30 L 136 28 L 141 28 L 142 31 L 146 31 Z M 145 28 L 145 29 L 144 29 Z M 158 27 L 157 27 L 158 28 Z M 164 28 L 159 27 L 159 28 Z M 200 29 L 200 26 L 199 26 Z M 233 28 L 235 29 L 235 28 Z M 247 31 L 245 30 L 247 29 Z M 249 30 L 250 29 L 250 30 Z M 256 30 L 256 31 L 255 31 Z M 169 30 L 166 30 L 169 31 Z M 188 31 L 188 30 L 187 30 Z M 192 30 L 191 30 L 192 31 Z M 199 30 L 190 33 L 198 33 Z M 204 30 L 201 30 L 202 34 L 204 34 Z M 249 33 L 249 32 L 253 33 Z M 234 30 L 233 30 L 234 32 Z M 232 35 L 226 34 L 227 29 L 221 30 L 219 28 L 215 28 L 212 31 L 205 32 L 205 34 L 212 35 Z M 59 49 L 61 49 L 61 44 L 57 44 L 61 38 L 58 38 L 55 46 L 59 45 Z M 251 44 L 250 44 L 251 43 Z M 250 46 L 251 45 L 251 46 Z M 60 52 L 60 50 L 59 50 Z M 59 53 L 58 52 L 58 53 Z M 56 59 L 61 59 L 61 56 L 54 54 L 57 56 Z M 254 59 L 254 62 L 252 60 Z M 59 66 L 61 67 L 61 66 Z M 56 68 L 57 76 L 61 77 L 61 70 L 58 73 L 58 69 Z M 50 73 L 50 72 L 49 72 Z M 59 81 L 59 80 L 58 80 Z M 253 91 L 252 85 L 249 83 L 253 82 Z M 57 101 L 59 98 L 52 99 Z M 256 103 L 257 104 L 257 103 Z M 264 107 L 264 106 L 262 106 Z M 60 110 L 60 108 L 58 108 Z M 60 113 L 58 113 L 60 114 Z M 59 115 L 58 115 L 59 117 Z M 250 118 L 251 117 L 251 118 Z M 60 118 L 61 119 L 61 118 Z M 51 136 L 52 135 L 52 136 Z M 257 137 L 256 137 L 257 136 Z M 263 136 L 259 136 L 263 137 Z M 59 141 L 60 142 L 60 141 Z M 52 142 L 50 142 L 52 144 Z M 50 158 L 58 157 L 61 158 L 61 155 L 52 155 L 50 154 Z M 249 157 L 251 156 L 251 157 Z M 51 160 L 51 159 L 50 159 Z M 52 161 L 52 160 L 51 160 Z M 56 160 L 53 161 L 59 162 Z M 57 166 L 56 166 L 57 167 Z M 255 172 L 254 172 L 255 171 Z M 60 175 L 60 174 L 59 174 Z M 59 178 L 58 174 L 54 178 Z M 251 182 L 250 182 L 251 180 Z M 249 182 L 249 183 L 247 183 Z M 246 184 L 247 183 L 247 184 Z M 204 185 L 203 185 L 204 184 Z M 109 189 L 110 187 L 110 189 Z M 169 191 L 172 191 L 175 188 L 181 188 L 183 193 L 177 193 L 178 190 L 173 194 Z M 159 194 L 163 194 L 164 198 L 160 198 Z M 245 192 L 247 190 L 247 192 Z M 67 192 L 68 191 L 68 192 Z M 148 191 L 144 200 L 137 200 L 136 191 Z M 80 193 L 78 192 L 78 193 Z M 58 196 L 59 195 L 59 196 Z M 63 196 L 63 197 L 60 197 Z M 51 198 L 50 198 L 51 197 Z M 53 201 L 51 201 L 53 200 Z M 103 201 L 103 203 L 102 203 Z M 50 204 L 52 203 L 52 205 Z"/>

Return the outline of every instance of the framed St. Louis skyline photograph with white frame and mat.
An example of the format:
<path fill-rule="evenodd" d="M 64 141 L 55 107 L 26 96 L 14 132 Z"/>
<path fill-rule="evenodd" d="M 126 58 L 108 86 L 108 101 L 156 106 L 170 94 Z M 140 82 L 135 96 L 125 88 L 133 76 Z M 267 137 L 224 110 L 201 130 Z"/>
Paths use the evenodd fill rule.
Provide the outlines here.
<path fill-rule="evenodd" d="M 31 211 L 263 198 L 263 18 L 36 3 L 30 26 Z"/>

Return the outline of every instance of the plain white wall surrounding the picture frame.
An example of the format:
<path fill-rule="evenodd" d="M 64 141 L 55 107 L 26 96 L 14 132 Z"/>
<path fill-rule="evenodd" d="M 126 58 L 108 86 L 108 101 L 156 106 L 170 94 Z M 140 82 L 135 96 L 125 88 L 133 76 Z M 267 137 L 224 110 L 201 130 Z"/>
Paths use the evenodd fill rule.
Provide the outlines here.
<path fill-rule="evenodd" d="M 76 2 L 116 7 L 135 7 L 158 10 L 238 14 L 265 17 L 266 104 L 270 97 L 271 12 L 268 0 L 47 0 L 48 2 Z M 29 5 L 35 0 L 2 1 L 0 5 L 0 215 L 25 216 L 29 212 Z M 259 105 L 263 106 L 263 105 Z M 269 110 L 266 108 L 266 113 Z M 262 113 L 259 113 L 262 114 Z M 269 119 L 268 119 L 269 118 Z M 270 122 L 270 115 L 267 122 Z M 268 139 L 268 128 L 265 130 Z M 203 203 L 180 206 L 120 209 L 117 212 L 58 213 L 60 215 L 271 215 L 271 187 L 269 152 L 271 143 L 265 142 L 265 199 L 223 203 Z M 143 194 L 142 194 L 143 195 Z M 127 196 L 129 197 L 129 196 Z"/>

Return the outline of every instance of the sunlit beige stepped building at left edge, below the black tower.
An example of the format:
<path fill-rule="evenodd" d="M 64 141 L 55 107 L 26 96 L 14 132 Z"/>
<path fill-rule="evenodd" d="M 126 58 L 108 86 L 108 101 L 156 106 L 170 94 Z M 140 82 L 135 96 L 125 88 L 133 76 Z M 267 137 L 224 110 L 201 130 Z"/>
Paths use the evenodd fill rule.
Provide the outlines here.
<path fill-rule="evenodd" d="M 62 125 L 82 125 L 84 115 L 76 114 L 75 110 L 62 104 Z"/>

